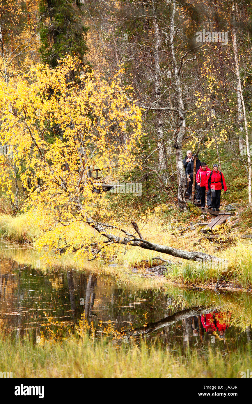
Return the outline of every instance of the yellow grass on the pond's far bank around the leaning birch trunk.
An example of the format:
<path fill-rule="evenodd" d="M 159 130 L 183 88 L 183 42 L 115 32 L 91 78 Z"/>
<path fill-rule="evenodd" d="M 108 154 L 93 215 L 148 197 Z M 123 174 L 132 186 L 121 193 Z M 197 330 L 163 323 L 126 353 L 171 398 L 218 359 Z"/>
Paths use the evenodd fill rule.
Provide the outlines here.
<path fill-rule="evenodd" d="M 36 212 L 26 213 L 18 215 L 17 217 L 11 217 L 10 215 L 0 216 L 0 234 L 2 237 L 11 241 L 22 242 L 24 240 L 28 242 L 35 242 L 40 238 L 40 230 L 36 220 Z M 41 224 L 42 220 L 40 221 Z M 228 260 L 228 276 L 229 279 L 237 280 L 244 288 L 252 284 L 252 245 L 251 242 L 238 240 L 235 246 L 229 247 L 227 250 L 217 251 L 217 247 L 208 240 L 202 240 L 198 242 L 201 234 L 200 229 L 193 231 L 186 231 L 182 235 L 178 229 L 179 226 L 186 227 L 184 223 L 168 223 L 164 224 L 163 221 L 157 216 L 152 215 L 147 222 L 139 222 L 138 226 L 144 239 L 157 244 L 172 246 L 181 250 L 187 251 L 201 251 L 210 255 L 215 255 L 220 258 Z M 124 227 L 129 231 L 133 231 L 132 227 Z M 91 234 L 93 242 L 100 242 L 104 239 L 99 233 L 91 229 L 89 226 L 79 223 L 73 223 L 71 226 L 61 226 L 56 235 L 56 241 L 58 234 L 66 236 L 66 239 L 74 239 L 76 232 L 81 231 L 83 234 Z M 46 248 L 44 248 L 46 252 Z M 34 254 L 34 252 L 32 253 Z M 172 271 L 169 271 L 168 278 L 172 281 L 184 282 L 184 283 L 198 283 L 207 284 L 210 281 L 216 282 L 220 276 L 219 268 L 208 267 L 201 270 L 197 269 L 197 264 L 191 261 L 182 260 L 176 257 L 172 257 L 166 254 L 160 254 L 155 251 L 144 250 L 140 247 L 115 245 L 106 251 L 106 254 L 101 254 L 95 261 L 88 261 L 87 258 L 83 258 L 80 255 L 74 254 L 62 254 L 55 255 L 53 252 L 50 254 L 48 260 L 40 258 L 42 254 L 37 255 L 36 261 L 39 262 L 39 267 L 45 267 L 47 269 L 51 267 L 72 267 L 74 269 L 85 269 L 91 271 L 101 271 L 106 274 L 117 274 L 120 279 L 128 280 L 134 278 L 130 271 L 131 268 L 143 268 L 152 265 L 153 257 L 161 257 L 168 259 L 174 263 L 183 263 L 182 266 L 174 265 Z M 30 260 L 34 264 L 34 259 Z M 157 263 L 157 261 L 153 261 Z M 159 261 L 160 263 L 160 261 Z M 117 264 L 119 268 L 108 267 L 108 264 Z M 120 275 L 121 274 L 121 275 Z M 118 279 L 119 279 L 118 278 Z"/>

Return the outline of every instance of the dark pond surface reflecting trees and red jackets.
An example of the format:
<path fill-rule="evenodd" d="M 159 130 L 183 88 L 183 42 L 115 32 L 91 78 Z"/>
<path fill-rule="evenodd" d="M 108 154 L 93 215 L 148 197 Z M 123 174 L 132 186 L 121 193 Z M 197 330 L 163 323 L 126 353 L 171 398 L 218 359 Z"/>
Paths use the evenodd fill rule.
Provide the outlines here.
<path fill-rule="evenodd" d="M 157 338 L 174 349 L 208 343 L 230 349 L 250 345 L 251 312 L 248 292 L 172 286 L 143 290 L 74 270 L 45 273 L 0 248 L 0 326 L 17 337 L 27 332 L 39 336 L 48 318 L 71 327 L 85 313 L 96 328 L 100 320 L 111 322 L 115 330 L 144 334 L 148 341 Z"/>

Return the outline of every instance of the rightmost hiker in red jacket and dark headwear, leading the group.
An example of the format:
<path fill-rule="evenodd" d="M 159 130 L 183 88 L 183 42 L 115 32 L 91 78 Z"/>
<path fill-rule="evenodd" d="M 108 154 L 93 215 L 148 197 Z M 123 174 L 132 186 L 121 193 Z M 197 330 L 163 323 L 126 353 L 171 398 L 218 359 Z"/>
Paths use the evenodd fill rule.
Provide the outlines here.
<path fill-rule="evenodd" d="M 212 209 L 220 210 L 220 193 L 222 189 L 224 189 L 224 192 L 227 191 L 227 185 L 225 183 L 224 175 L 218 170 L 218 164 L 213 165 L 213 171 L 211 171 L 207 185 L 208 189 L 211 190 Z"/>

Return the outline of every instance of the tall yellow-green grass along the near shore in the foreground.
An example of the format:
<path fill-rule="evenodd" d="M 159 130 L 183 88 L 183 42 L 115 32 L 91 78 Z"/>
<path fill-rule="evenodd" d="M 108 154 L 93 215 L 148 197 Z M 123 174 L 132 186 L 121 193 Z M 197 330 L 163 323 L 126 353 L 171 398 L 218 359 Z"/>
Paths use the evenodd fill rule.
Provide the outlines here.
<path fill-rule="evenodd" d="M 35 345 L 28 338 L 0 338 L 0 369 L 13 377 L 241 377 L 252 368 L 251 349 L 223 355 L 220 348 L 185 353 L 144 341 L 118 343 L 90 337 Z"/>

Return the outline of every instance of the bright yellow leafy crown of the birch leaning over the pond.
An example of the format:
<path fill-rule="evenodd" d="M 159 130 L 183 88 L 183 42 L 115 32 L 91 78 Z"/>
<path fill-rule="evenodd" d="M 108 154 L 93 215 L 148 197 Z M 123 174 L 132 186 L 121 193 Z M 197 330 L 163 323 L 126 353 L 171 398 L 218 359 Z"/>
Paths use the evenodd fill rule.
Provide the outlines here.
<path fill-rule="evenodd" d="M 42 227 L 37 248 L 63 248 L 78 258 L 109 245 L 102 236 L 100 245 L 92 245 L 87 218 L 89 224 L 94 219 L 120 225 L 109 198 L 96 192 L 99 180 L 92 167 L 111 167 L 112 178 L 131 170 L 142 130 L 141 110 L 129 101 L 129 88 L 121 86 L 122 71 L 108 82 L 89 66 L 80 74 L 79 66 L 68 56 L 55 69 L 38 64 L 0 85 L 0 142 L 13 150 L 11 164 L 1 156 L 0 187 L 14 203 L 12 181 L 18 173 L 27 197 L 23 209 L 36 206 Z M 65 226 L 76 229 L 68 240 Z"/>

